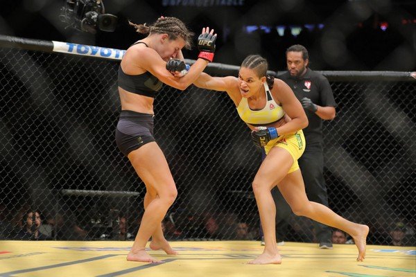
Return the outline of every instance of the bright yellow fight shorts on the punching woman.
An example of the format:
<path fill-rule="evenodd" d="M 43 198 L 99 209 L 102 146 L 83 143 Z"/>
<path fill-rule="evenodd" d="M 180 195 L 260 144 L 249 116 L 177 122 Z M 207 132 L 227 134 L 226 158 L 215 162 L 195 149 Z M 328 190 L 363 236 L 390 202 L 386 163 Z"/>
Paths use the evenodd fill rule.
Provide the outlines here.
<path fill-rule="evenodd" d="M 268 144 L 264 147 L 266 155 L 274 147 L 286 149 L 289 153 L 291 153 L 291 156 L 293 157 L 293 165 L 289 169 L 288 173 L 299 169 L 299 163 L 297 163 L 297 159 L 302 156 L 306 147 L 305 136 L 302 130 L 297 131 L 294 134 L 284 134 L 277 137 L 277 139 L 272 139 L 269 141 Z"/>

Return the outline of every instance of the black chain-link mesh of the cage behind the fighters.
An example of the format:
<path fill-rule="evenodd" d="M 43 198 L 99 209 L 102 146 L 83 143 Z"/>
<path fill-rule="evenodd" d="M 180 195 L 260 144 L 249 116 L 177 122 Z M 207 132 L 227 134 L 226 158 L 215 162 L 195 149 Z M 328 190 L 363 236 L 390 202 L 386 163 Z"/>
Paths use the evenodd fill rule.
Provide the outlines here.
<path fill-rule="evenodd" d="M 23 238 L 27 211 L 40 212 L 52 239 L 134 238 L 145 187 L 115 144 L 117 68 L 110 60 L 0 49 L 1 238 Z M 392 224 L 408 233 L 415 225 L 416 82 L 331 86 L 339 108 L 324 124 L 330 207 L 369 224 L 370 243 L 390 244 Z M 226 93 L 164 86 L 155 114 L 155 139 L 178 190 L 166 238 L 259 239 L 251 182 L 261 154 Z M 239 235 L 239 223 L 248 235 Z M 291 217 L 288 238 L 312 241 L 310 223 Z"/>

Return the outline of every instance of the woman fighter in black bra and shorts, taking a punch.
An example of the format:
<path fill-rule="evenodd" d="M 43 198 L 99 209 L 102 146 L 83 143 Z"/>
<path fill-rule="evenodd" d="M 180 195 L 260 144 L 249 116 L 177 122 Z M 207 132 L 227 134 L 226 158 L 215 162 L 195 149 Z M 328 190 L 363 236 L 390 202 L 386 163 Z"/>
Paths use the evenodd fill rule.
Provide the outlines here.
<path fill-rule="evenodd" d="M 198 78 L 215 51 L 214 30 L 202 28 L 198 37 L 198 60 L 187 75 L 176 78 L 166 69 L 171 58 L 181 58 L 182 48 L 191 46 L 191 33 L 180 19 L 160 17 L 147 26 L 132 24 L 138 33 L 148 36 L 133 44 L 126 51 L 119 68 L 119 94 L 121 114 L 116 128 L 116 143 L 135 168 L 146 185 L 144 215 L 135 242 L 127 260 L 159 262 L 145 251 L 152 237 L 150 248 L 162 249 L 174 255 L 162 233 L 161 222 L 168 208 L 175 201 L 177 190 L 168 163 L 153 137 L 153 101 L 162 83 L 184 90 Z"/>

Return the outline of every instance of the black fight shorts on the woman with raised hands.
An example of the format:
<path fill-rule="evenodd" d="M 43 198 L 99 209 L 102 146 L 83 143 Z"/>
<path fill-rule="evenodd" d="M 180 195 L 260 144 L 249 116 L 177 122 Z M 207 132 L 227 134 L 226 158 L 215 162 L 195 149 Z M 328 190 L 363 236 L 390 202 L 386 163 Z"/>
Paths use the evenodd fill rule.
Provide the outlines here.
<path fill-rule="evenodd" d="M 136 111 L 121 111 L 116 128 L 117 147 L 125 156 L 146 143 L 155 141 L 153 137 L 153 114 Z"/>

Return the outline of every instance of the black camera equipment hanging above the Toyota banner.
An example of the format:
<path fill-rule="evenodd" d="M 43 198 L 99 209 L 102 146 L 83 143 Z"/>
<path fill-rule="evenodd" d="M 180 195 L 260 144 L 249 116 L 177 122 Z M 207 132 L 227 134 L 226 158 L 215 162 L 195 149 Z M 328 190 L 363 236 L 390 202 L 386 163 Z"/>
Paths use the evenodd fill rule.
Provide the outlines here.
<path fill-rule="evenodd" d="M 76 30 L 95 34 L 97 28 L 105 32 L 114 32 L 117 17 L 104 13 L 102 0 L 64 0 L 60 20 Z"/>

